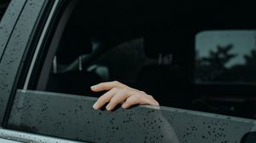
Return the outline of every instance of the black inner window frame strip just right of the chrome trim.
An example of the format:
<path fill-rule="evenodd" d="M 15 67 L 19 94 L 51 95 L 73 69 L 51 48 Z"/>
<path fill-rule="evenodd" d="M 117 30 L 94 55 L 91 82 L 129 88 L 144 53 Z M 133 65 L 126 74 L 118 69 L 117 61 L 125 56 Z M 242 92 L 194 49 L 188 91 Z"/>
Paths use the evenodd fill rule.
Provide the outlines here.
<path fill-rule="evenodd" d="M 30 67 L 30 70 L 32 70 L 30 74 L 32 75 L 26 78 L 27 83 L 24 85 L 23 89 L 44 90 L 46 88 L 52 61 L 54 60 L 55 53 L 61 42 L 61 35 L 64 32 L 67 20 L 70 14 L 72 14 L 77 2 L 78 0 L 73 0 L 70 3 L 65 0 L 61 1 L 61 6 L 59 6 L 61 8 L 57 9 L 58 11 L 54 18 L 55 21 L 49 31 L 49 36 L 46 37 L 46 43 L 42 45 L 44 51 L 41 51 L 41 53 L 35 57 L 39 57 L 38 60 L 42 61 Z M 64 9 L 65 11 L 63 12 Z"/>

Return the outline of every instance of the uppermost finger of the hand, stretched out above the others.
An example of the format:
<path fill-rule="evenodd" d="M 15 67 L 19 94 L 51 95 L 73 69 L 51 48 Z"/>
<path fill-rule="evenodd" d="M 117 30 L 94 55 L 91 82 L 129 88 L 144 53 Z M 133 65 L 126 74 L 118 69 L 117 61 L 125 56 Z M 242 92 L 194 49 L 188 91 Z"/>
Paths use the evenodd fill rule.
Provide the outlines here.
<path fill-rule="evenodd" d="M 113 81 L 113 82 L 106 82 L 106 83 L 96 84 L 94 86 L 91 86 L 90 89 L 92 91 L 99 92 L 99 91 L 110 90 L 110 89 L 118 88 L 118 87 L 124 87 L 125 88 L 127 86 L 125 84 L 123 84 L 123 83 L 119 83 L 117 81 Z"/>

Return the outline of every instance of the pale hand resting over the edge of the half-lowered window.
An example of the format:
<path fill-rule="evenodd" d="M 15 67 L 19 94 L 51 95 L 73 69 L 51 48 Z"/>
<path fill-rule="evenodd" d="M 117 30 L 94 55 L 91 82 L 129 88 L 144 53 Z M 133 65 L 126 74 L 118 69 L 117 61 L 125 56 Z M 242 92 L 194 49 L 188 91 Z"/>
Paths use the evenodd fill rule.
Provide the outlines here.
<path fill-rule="evenodd" d="M 94 92 L 108 90 L 108 92 L 103 94 L 93 105 L 95 109 L 101 108 L 108 102 L 108 106 L 106 106 L 108 111 L 113 110 L 119 103 L 122 103 L 122 107 L 125 109 L 134 105 L 159 106 L 159 103 L 154 100 L 151 95 L 137 89 L 132 89 L 116 81 L 99 83 L 90 87 L 90 89 Z"/>

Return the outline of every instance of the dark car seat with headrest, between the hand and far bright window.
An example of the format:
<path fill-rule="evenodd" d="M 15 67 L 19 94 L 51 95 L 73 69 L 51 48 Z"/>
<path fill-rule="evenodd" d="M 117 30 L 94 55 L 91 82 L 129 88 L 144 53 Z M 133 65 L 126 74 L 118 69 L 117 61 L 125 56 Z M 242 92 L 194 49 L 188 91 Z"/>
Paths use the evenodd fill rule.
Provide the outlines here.
<path fill-rule="evenodd" d="M 182 38 L 173 38 L 173 43 L 170 39 L 172 36 L 168 35 L 145 38 L 145 54 L 159 62 L 143 68 L 137 77 L 137 88 L 152 94 L 161 106 L 185 108 L 189 102 L 189 82 L 183 69 L 186 58 L 180 44 Z"/>

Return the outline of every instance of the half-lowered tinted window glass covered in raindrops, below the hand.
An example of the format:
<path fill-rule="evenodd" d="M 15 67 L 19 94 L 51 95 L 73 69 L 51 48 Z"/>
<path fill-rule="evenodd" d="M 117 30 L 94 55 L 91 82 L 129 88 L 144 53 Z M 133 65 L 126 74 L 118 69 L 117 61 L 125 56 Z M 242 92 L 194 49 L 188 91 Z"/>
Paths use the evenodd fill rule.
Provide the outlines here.
<path fill-rule="evenodd" d="M 94 110 L 96 98 L 19 90 L 9 128 L 92 142 L 240 142 L 255 121 L 171 107 Z M 176 139 L 177 134 L 177 139 Z"/>

